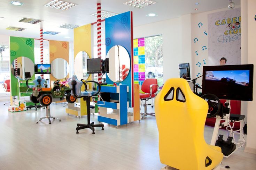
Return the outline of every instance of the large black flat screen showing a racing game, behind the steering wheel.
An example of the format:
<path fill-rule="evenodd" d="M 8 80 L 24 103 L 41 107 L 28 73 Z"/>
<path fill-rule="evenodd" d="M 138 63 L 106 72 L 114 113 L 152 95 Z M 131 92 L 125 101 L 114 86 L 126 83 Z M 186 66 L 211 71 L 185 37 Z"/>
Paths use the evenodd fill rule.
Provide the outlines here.
<path fill-rule="evenodd" d="M 219 99 L 253 101 L 253 64 L 203 66 L 202 94 Z"/>

